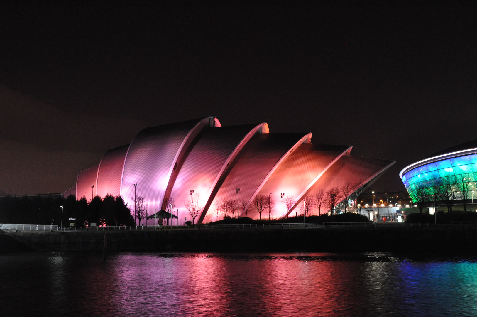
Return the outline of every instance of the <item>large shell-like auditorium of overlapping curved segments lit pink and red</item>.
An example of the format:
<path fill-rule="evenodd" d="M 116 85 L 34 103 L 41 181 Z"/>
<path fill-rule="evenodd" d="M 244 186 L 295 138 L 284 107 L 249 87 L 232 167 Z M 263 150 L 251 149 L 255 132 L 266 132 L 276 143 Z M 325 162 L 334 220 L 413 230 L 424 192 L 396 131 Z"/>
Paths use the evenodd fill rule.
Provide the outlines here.
<path fill-rule="evenodd" d="M 311 133 L 270 133 L 267 123 L 222 127 L 208 116 L 143 129 L 131 144 L 108 150 L 98 165 L 81 171 L 76 186 L 63 195 L 88 201 L 121 195 L 133 206 L 137 184 L 136 194 L 145 197 L 149 211 L 174 198 L 179 215 L 186 215 L 184 202 L 194 190 L 200 194 L 197 223 L 202 223 L 216 202 L 237 201 L 239 188 L 240 201 L 271 195 L 276 202 L 271 216 L 279 218 L 280 193 L 296 200 L 294 213 L 308 194 L 346 182 L 369 186 L 394 164 L 352 156 L 352 148 L 312 143 Z M 258 212 L 249 217 L 258 218 Z"/>

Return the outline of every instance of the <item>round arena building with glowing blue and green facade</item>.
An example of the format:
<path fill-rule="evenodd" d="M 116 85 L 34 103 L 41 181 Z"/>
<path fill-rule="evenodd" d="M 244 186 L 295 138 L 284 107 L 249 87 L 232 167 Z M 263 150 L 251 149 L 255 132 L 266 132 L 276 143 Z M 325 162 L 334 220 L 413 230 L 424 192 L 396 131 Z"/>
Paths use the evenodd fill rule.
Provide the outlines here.
<path fill-rule="evenodd" d="M 416 198 L 417 190 L 424 190 L 426 193 L 432 194 L 433 186 L 447 188 L 439 190 L 440 192 L 445 191 L 444 195 L 440 195 L 442 200 L 445 200 L 446 194 L 453 195 L 454 199 L 468 199 L 462 197 L 462 192 L 474 190 L 475 187 L 472 186 L 476 186 L 477 140 L 446 148 L 406 166 L 399 173 L 399 177 L 413 201 L 418 200 Z M 462 186 L 464 186 L 463 190 Z M 436 190 L 436 192 L 438 191 Z"/>

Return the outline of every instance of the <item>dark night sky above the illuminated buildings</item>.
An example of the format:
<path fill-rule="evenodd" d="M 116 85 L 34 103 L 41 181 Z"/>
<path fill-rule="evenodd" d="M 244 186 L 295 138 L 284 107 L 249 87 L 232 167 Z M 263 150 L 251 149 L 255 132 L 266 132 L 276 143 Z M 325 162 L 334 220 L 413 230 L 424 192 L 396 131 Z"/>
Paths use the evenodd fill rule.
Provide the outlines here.
<path fill-rule="evenodd" d="M 209 115 L 396 160 L 373 189 L 404 190 L 404 166 L 477 138 L 476 13 L 2 2 L 0 191 L 62 192 L 140 129 Z"/>

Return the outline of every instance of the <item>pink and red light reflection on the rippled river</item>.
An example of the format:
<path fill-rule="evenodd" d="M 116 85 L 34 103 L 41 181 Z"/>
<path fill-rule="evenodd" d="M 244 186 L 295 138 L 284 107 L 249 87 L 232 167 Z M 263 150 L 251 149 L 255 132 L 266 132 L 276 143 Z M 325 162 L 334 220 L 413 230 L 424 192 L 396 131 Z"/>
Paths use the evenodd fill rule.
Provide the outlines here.
<path fill-rule="evenodd" d="M 305 261 L 287 255 L 117 255 L 110 263 L 120 281 L 111 300 L 123 312 L 134 303 L 156 313 L 204 316 L 342 316 L 359 311 L 363 292 L 353 264 Z M 357 304 L 358 303 L 358 304 Z M 362 308 L 362 307 L 361 307 Z"/>

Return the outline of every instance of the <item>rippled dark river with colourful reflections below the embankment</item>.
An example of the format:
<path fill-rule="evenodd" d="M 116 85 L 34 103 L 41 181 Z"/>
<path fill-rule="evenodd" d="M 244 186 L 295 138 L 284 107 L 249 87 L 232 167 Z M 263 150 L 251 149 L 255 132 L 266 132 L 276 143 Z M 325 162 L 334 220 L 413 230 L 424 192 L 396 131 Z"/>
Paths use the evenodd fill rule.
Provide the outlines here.
<path fill-rule="evenodd" d="M 1 316 L 477 316 L 477 261 L 367 254 L 0 255 Z"/>

